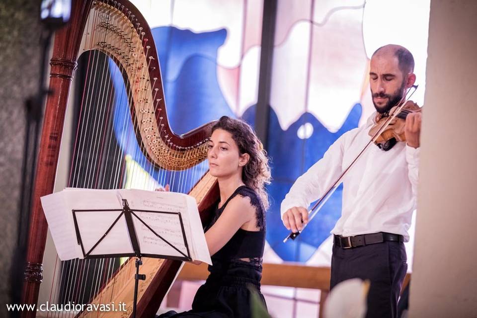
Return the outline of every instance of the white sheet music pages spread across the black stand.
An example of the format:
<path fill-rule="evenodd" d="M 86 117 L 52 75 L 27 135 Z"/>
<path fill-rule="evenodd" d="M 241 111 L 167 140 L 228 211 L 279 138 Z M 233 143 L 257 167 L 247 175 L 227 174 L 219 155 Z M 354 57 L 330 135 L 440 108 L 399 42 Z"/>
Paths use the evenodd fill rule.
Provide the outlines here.
<path fill-rule="evenodd" d="M 197 204 L 193 197 L 174 192 L 124 189 L 66 188 L 41 198 L 60 259 L 83 258 L 83 251 L 77 241 L 72 210 L 86 210 L 75 213 L 84 253 L 89 252 L 108 229 L 110 229 L 109 233 L 92 249 L 90 255 L 134 253 L 124 215 L 118 219 L 123 209 L 122 199 L 126 199 L 133 213 L 162 238 L 158 238 L 133 215 L 134 228 L 142 254 L 179 257 L 183 257 L 183 254 L 187 255 L 179 221 L 180 214 L 191 258 L 208 264 L 212 263 Z M 116 224 L 111 228 L 116 219 L 118 219 Z"/>

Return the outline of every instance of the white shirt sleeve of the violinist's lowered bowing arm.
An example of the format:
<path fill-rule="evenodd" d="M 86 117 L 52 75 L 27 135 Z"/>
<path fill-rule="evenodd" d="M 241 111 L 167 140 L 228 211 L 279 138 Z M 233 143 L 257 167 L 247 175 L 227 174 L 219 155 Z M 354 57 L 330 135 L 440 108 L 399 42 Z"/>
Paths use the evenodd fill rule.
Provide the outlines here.
<path fill-rule="evenodd" d="M 348 132 L 349 133 L 349 132 Z M 283 214 L 293 207 L 308 208 L 318 200 L 342 171 L 344 144 L 347 133 L 341 135 L 325 152 L 322 159 L 312 165 L 290 188 L 280 207 Z"/>

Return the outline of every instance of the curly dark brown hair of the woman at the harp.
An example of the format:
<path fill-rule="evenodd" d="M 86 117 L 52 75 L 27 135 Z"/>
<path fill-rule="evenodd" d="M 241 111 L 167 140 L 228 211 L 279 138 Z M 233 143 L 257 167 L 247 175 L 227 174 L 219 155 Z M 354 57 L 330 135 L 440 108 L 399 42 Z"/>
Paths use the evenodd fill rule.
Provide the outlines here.
<path fill-rule="evenodd" d="M 240 154 L 248 154 L 250 159 L 243 166 L 242 181 L 246 186 L 257 192 L 266 209 L 269 207 L 268 195 L 265 191 L 265 184 L 270 184 L 270 167 L 268 165 L 267 152 L 255 135 L 253 129 L 244 121 L 222 116 L 212 127 L 212 132 L 216 129 L 223 129 L 232 134 L 232 138 L 239 146 Z"/>

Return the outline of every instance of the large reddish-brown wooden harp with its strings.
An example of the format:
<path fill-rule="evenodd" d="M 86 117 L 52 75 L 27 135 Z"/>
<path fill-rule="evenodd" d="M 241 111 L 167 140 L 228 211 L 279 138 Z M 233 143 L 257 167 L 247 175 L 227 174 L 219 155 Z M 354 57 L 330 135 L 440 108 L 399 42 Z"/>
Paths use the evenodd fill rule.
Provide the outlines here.
<path fill-rule="evenodd" d="M 172 131 L 167 120 L 158 54 L 144 17 L 127 0 L 75 1 L 69 26 L 55 35 L 50 63 L 53 93 L 47 99 L 33 186 L 24 304 L 38 302 L 48 228 L 40 197 L 54 189 L 66 106 L 81 54 L 85 57 L 86 76 L 89 74 L 90 78 L 84 81 L 85 87 L 80 91 L 69 186 L 117 188 L 124 184 L 127 165 L 124 152 L 117 145 L 111 146 L 115 138 L 112 123 L 116 113 L 111 108 L 114 92 L 108 86 L 109 78 L 104 76 L 108 73 L 104 71 L 106 64 L 112 63 L 124 80 L 123 98 L 128 107 L 122 125 L 133 132 L 127 145 L 135 145 L 138 157 L 143 159 L 135 169 L 156 173 L 163 183 L 175 184 L 174 190 L 194 196 L 203 222 L 219 195 L 215 178 L 204 166 L 206 141 L 213 123 L 184 135 Z M 105 179 L 109 181 L 104 182 Z M 127 312 L 122 312 L 121 317 L 131 316 L 134 260 L 124 263 L 117 259 L 72 260 L 57 262 L 56 266 L 59 275 L 52 284 L 51 302 L 92 305 L 123 302 Z M 141 268 L 147 279 L 139 286 L 138 317 L 154 317 L 180 266 L 180 261 L 143 258 Z M 35 317 L 36 313 L 22 315 Z M 66 315 L 118 317 L 114 312 L 77 311 Z"/>

